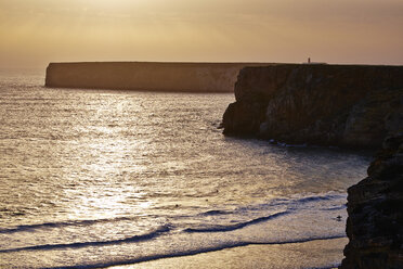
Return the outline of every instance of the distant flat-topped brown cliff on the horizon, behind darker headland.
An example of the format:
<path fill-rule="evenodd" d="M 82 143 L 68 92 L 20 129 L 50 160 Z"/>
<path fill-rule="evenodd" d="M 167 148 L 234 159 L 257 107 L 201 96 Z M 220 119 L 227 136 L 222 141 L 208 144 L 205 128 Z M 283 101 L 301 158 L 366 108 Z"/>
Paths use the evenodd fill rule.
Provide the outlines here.
<path fill-rule="evenodd" d="M 233 92 L 236 76 L 256 63 L 51 63 L 52 88 Z"/>

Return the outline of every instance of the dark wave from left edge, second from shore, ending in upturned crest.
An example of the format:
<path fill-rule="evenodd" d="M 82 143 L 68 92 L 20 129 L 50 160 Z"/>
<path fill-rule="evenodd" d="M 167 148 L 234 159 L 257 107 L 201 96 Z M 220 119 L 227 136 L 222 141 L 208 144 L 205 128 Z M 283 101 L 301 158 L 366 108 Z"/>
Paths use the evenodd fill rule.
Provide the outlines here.
<path fill-rule="evenodd" d="M 17 247 L 17 248 L 8 248 L 8 249 L 0 249 L 0 253 L 14 253 L 14 252 L 23 252 L 23 251 L 51 251 L 51 249 L 58 249 L 58 248 L 80 248 L 87 246 L 107 246 L 107 245 L 117 245 L 123 243 L 134 243 L 140 241 L 152 240 L 154 238 L 159 236 L 161 233 L 169 232 L 171 229 L 168 226 L 161 226 L 158 229 L 141 234 L 134 235 L 125 239 L 118 240 L 110 240 L 110 241 L 89 241 L 89 242 L 77 242 L 77 243 L 67 243 L 67 244 L 46 244 L 46 245 L 34 245 L 34 246 L 25 246 L 25 247 Z"/>

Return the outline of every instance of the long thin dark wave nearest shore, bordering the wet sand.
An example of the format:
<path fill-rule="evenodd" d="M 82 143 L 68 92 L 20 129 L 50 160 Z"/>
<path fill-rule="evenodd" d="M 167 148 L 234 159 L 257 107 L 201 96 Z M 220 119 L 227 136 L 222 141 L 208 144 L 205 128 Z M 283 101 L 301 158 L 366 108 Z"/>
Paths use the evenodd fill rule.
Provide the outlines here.
<path fill-rule="evenodd" d="M 43 269 L 92 269 L 92 268 L 107 268 L 113 266 L 125 266 L 125 265 L 134 265 L 139 262 L 144 261 L 152 261 L 157 259 L 164 259 L 164 258 L 174 258 L 174 257 L 184 257 L 184 256 L 192 256 L 203 253 L 210 253 L 210 252 L 219 252 L 227 248 L 235 248 L 239 246 L 247 246 L 247 245 L 284 245 L 284 244 L 296 244 L 296 243 L 307 243 L 311 241 L 317 241 L 317 240 L 334 240 L 334 239 L 342 239 L 346 238 L 346 235 L 333 235 L 333 236 L 313 236 L 313 238 L 307 238 L 307 239 L 299 239 L 299 240 L 290 240 L 290 241 L 280 241 L 280 242 L 234 242 L 234 243 L 227 243 L 222 244 L 220 246 L 213 246 L 213 247 L 204 247 L 198 249 L 191 249 L 191 251 L 184 251 L 184 252 L 177 252 L 177 253 L 170 253 L 170 254 L 157 254 L 157 255 L 150 255 L 144 257 L 138 257 L 132 259 L 123 259 L 123 260 L 112 260 L 106 262 L 99 262 L 99 264 L 92 264 L 92 265 L 75 265 L 75 266 L 63 266 L 63 267 L 47 267 Z"/>

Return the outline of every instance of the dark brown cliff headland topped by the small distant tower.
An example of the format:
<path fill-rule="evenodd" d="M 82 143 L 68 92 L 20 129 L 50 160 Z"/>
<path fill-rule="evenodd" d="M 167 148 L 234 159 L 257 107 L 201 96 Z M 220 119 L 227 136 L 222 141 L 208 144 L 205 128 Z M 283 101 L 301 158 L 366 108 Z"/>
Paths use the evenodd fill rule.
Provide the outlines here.
<path fill-rule="evenodd" d="M 225 134 L 379 148 L 403 129 L 403 66 L 246 67 L 235 98 L 223 116 Z"/>

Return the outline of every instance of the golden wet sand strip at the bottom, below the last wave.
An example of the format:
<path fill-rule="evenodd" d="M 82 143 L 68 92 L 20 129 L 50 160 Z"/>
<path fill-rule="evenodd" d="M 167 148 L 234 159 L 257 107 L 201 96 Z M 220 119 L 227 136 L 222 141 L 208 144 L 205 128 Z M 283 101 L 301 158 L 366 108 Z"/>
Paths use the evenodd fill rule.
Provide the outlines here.
<path fill-rule="evenodd" d="M 306 243 L 248 245 L 192 256 L 164 258 L 110 269 L 151 268 L 336 268 L 347 238 Z"/>

